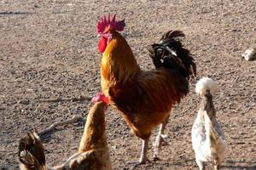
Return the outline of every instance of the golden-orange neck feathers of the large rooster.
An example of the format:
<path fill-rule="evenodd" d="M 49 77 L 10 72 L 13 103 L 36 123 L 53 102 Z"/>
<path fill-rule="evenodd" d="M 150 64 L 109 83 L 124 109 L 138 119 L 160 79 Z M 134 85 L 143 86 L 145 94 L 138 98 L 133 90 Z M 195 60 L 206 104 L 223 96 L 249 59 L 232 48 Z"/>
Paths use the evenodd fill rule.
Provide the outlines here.
<path fill-rule="evenodd" d="M 113 31 L 102 56 L 102 78 L 110 83 L 125 83 L 133 78 L 139 67 L 131 48 L 119 32 Z"/>

